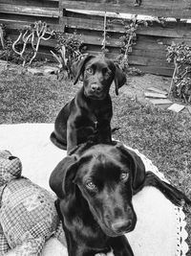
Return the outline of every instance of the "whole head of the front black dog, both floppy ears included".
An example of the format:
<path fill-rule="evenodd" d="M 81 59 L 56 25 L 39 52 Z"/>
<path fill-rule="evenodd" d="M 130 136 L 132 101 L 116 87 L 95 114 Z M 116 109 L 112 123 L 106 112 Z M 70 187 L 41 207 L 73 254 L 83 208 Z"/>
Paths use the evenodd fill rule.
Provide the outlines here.
<path fill-rule="evenodd" d="M 67 156 L 54 169 L 53 191 L 59 198 L 77 198 L 78 191 L 106 235 L 132 231 L 137 222 L 132 196 L 145 177 L 140 158 L 121 145 L 104 144 L 76 155 Z M 59 173 L 62 177 L 58 175 L 55 182 Z"/>

